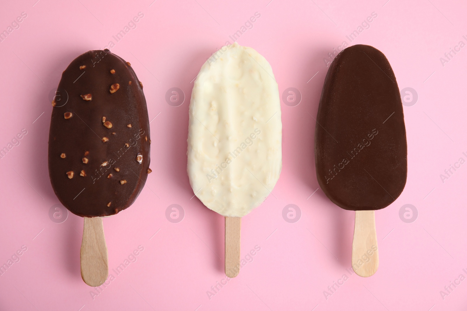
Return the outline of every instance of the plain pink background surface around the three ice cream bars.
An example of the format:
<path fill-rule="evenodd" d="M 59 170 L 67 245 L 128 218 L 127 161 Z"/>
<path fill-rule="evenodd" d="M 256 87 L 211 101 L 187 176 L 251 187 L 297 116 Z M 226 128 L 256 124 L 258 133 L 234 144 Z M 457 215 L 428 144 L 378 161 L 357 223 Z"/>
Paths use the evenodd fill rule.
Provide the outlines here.
<path fill-rule="evenodd" d="M 467 47 L 444 66 L 439 60 L 459 41 L 467 43 L 465 3 L 152 1 L 1 5 L 0 30 L 21 12 L 28 16 L 0 43 L 0 148 L 21 129 L 28 133 L 0 160 L 0 264 L 27 247 L 0 276 L 0 310 L 465 310 L 466 280 L 444 299 L 440 290 L 467 276 L 467 164 L 444 183 L 440 174 L 460 157 L 467 159 Z M 137 28 L 116 43 L 112 36 L 138 12 L 144 17 Z M 281 96 L 294 87 L 302 101 L 290 107 L 281 99 L 282 174 L 274 196 L 242 221 L 242 258 L 255 245 L 261 250 L 210 299 L 206 291 L 225 277 L 224 220 L 192 198 L 186 174 L 191 81 L 255 12 L 261 17 L 239 44 L 266 57 Z M 377 18 L 370 28 L 350 42 L 346 35 L 372 12 Z M 49 217 L 58 203 L 47 168 L 49 92 L 75 57 L 109 41 L 144 83 L 149 119 L 160 114 L 151 123 L 153 173 L 146 187 L 132 207 L 104 219 L 111 269 L 139 245 L 144 251 L 120 275 L 110 270 L 115 279 L 93 297 L 80 276 L 83 219 L 70 213 L 55 223 Z M 335 206 L 321 189 L 313 194 L 318 182 L 311 116 L 327 72 L 323 59 L 343 41 L 380 49 L 399 88 L 418 94 L 415 105 L 404 107 L 407 185 L 392 205 L 375 212 L 380 267 L 369 278 L 348 271 L 354 212 Z M 165 101 L 172 87 L 186 97 L 178 107 Z M 168 221 L 171 204 L 183 207 L 183 221 Z M 300 208 L 299 221 L 283 219 L 288 204 Z M 400 219 L 404 204 L 417 208 L 416 221 Z M 343 274 L 348 280 L 326 299 L 323 291 Z"/>

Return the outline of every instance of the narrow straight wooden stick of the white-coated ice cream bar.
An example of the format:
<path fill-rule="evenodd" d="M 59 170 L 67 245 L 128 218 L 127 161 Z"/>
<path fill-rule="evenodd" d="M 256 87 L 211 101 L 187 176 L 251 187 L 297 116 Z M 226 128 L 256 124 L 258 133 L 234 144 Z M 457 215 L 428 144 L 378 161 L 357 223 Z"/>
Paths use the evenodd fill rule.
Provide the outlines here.
<path fill-rule="evenodd" d="M 226 217 L 226 262 L 228 277 L 238 276 L 240 272 L 240 227 L 241 217 Z"/>

